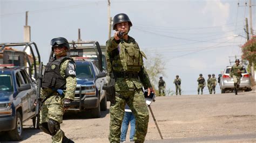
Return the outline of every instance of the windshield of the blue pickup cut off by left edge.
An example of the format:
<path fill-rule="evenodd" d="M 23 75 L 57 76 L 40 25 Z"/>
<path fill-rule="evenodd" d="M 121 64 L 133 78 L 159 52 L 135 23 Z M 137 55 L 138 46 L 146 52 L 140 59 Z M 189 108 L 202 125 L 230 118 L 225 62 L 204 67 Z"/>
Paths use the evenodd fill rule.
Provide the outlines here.
<path fill-rule="evenodd" d="M 14 84 L 12 83 L 11 75 L 4 75 L 4 74 L 0 75 L 0 91 L 13 92 L 14 91 L 13 85 Z"/>

